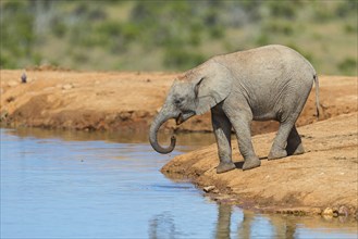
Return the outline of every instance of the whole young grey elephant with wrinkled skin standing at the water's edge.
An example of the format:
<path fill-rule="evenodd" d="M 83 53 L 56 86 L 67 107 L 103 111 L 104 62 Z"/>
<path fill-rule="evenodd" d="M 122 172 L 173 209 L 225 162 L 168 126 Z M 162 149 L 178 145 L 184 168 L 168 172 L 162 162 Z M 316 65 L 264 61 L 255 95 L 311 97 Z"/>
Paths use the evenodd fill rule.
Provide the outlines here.
<path fill-rule="evenodd" d="M 250 122 L 275 120 L 280 128 L 269 160 L 304 153 L 295 122 L 318 77 L 312 65 L 299 53 L 284 46 L 267 46 L 211 58 L 175 79 L 164 105 L 155 118 L 149 141 L 160 153 L 175 147 L 175 137 L 168 148 L 157 140 L 160 126 L 170 118 L 182 124 L 194 115 L 211 110 L 220 164 L 218 173 L 235 168 L 232 162 L 231 129 L 244 156 L 243 169 L 260 166 L 254 152 Z"/>

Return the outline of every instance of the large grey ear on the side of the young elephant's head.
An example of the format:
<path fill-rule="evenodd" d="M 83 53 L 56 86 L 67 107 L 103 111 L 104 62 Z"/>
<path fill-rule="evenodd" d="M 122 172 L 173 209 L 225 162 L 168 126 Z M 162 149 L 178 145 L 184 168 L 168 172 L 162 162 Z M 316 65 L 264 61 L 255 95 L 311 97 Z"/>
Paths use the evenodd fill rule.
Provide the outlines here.
<path fill-rule="evenodd" d="M 195 85 L 196 114 L 206 113 L 231 92 L 232 76 L 229 70 L 218 63 L 209 67 L 209 74 L 199 78 Z"/>

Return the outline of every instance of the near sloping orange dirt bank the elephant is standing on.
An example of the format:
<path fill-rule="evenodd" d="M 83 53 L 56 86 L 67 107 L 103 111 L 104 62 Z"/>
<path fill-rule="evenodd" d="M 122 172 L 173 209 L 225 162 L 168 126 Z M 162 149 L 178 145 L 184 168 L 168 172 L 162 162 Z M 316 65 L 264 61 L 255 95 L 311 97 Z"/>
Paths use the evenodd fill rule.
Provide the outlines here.
<path fill-rule="evenodd" d="M 299 127 L 306 153 L 282 160 L 267 160 L 274 133 L 255 136 L 254 146 L 261 159 L 258 168 L 240 169 L 243 158 L 235 140 L 233 158 L 237 169 L 217 174 L 217 144 L 212 144 L 174 158 L 162 173 L 172 179 L 189 178 L 214 200 L 243 207 L 357 218 L 357 116 L 343 114 Z"/>

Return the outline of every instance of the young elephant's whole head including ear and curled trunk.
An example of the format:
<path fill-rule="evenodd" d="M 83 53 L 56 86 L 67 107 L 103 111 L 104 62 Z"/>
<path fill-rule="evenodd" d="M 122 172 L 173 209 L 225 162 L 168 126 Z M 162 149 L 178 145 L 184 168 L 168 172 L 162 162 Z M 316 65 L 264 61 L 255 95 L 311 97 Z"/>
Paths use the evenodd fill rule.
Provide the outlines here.
<path fill-rule="evenodd" d="M 223 101 L 231 92 L 230 71 L 213 59 L 186 72 L 174 80 L 166 100 L 149 129 L 149 141 L 159 153 L 170 153 L 175 148 L 175 136 L 171 144 L 162 148 L 157 134 L 162 124 L 174 118 L 180 125 L 194 115 L 203 114 Z"/>

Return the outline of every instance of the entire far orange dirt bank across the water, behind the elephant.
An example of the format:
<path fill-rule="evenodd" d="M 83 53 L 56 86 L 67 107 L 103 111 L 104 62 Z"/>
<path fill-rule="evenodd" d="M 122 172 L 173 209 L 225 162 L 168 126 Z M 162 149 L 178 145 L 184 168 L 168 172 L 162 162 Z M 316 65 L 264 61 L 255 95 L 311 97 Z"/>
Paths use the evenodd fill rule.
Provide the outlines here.
<path fill-rule="evenodd" d="M 78 130 L 147 130 L 177 73 L 1 70 L 0 117 L 11 126 Z M 357 78 L 320 77 L 321 120 L 357 111 Z M 312 92 L 297 124 L 316 122 Z M 274 122 L 252 124 L 252 134 L 275 130 Z M 175 126 L 176 131 L 211 131 L 210 113 Z"/>

